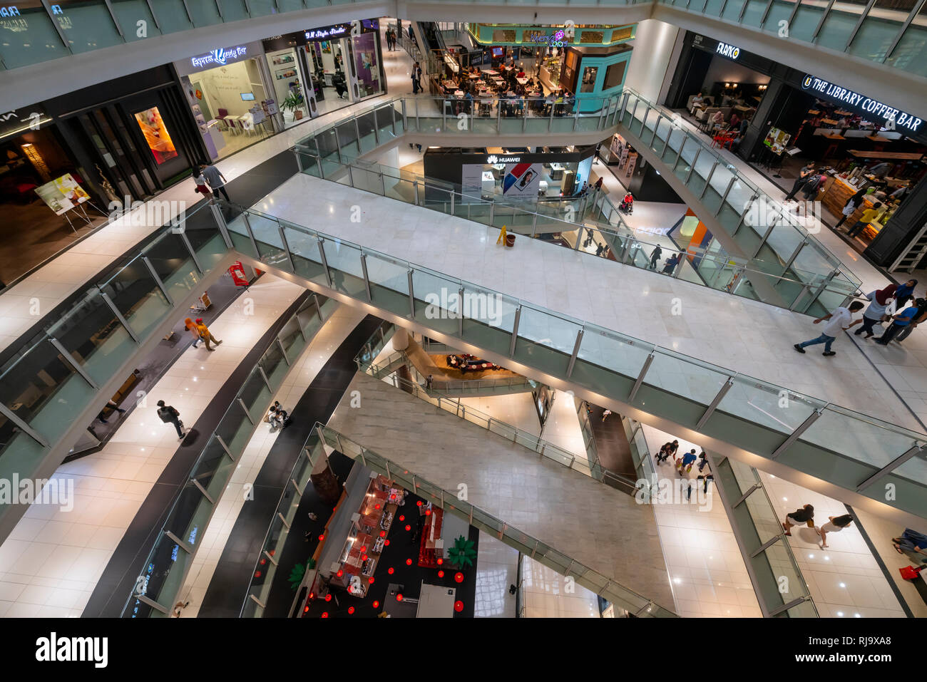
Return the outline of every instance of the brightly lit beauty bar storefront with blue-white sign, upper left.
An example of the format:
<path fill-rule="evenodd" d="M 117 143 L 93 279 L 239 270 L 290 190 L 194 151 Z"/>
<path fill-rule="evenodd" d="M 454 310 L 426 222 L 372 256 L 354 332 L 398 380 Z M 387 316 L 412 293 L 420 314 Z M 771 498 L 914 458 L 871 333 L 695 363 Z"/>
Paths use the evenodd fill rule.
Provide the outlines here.
<path fill-rule="evenodd" d="M 280 130 L 263 45 L 230 45 L 174 62 L 211 160 Z"/>

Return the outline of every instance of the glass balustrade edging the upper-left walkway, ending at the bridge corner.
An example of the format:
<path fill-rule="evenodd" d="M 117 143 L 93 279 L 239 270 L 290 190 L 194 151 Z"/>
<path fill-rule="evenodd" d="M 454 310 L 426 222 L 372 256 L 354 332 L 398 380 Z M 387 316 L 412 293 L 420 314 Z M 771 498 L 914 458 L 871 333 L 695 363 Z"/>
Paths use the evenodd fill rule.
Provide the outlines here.
<path fill-rule="evenodd" d="M 121 259 L 0 367 L 0 476 L 32 474 L 100 386 L 175 315 L 174 306 L 231 254 L 205 203 Z"/>

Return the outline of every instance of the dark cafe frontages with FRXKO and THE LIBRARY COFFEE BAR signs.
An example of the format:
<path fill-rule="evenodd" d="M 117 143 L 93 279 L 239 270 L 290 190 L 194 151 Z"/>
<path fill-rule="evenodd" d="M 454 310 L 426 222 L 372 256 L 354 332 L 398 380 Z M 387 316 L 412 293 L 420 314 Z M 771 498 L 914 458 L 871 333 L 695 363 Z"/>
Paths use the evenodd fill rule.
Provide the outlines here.
<path fill-rule="evenodd" d="M 786 199 L 819 202 L 819 219 L 864 252 L 927 174 L 921 120 L 846 83 L 686 37 L 667 105 Z"/>

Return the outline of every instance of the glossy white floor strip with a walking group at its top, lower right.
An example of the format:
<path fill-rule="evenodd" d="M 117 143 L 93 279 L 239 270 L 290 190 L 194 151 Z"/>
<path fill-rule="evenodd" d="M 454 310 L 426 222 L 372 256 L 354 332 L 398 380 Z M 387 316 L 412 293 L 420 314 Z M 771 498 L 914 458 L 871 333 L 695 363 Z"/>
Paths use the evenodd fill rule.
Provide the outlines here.
<path fill-rule="evenodd" d="M 676 436 L 643 426 L 651 453 L 671 440 L 679 440 L 679 452 L 701 448 Z M 653 457 L 652 457 L 653 459 Z M 670 459 L 655 467 L 660 480 L 678 480 Z M 698 475 L 692 468 L 689 478 Z M 699 486 L 704 485 L 699 482 Z M 702 489 L 701 487 L 699 489 Z M 656 527 L 667 559 L 673 598 L 678 613 L 691 617 L 759 618 L 753 583 L 747 574 L 743 555 L 730 527 L 728 515 L 715 487 L 708 486 L 704 498 L 711 504 L 698 505 L 697 493 L 692 492 L 692 504 L 654 504 Z"/>

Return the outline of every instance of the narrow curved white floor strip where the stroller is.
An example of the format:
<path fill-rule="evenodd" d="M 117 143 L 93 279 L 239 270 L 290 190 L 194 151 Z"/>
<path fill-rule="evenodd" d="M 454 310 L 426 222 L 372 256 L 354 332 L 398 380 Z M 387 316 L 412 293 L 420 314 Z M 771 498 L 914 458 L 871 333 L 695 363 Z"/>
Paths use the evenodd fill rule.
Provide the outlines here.
<path fill-rule="evenodd" d="M 298 413 L 293 412 L 299 398 L 309 388 L 325 362 L 332 357 L 332 354 L 363 318 L 364 313 L 359 309 L 338 306 L 311 343 L 303 348 L 296 366 L 290 370 L 286 381 L 273 397 L 274 400 L 280 401 L 285 410 L 292 412 L 293 419 L 299 419 Z M 197 556 L 187 575 L 180 600 L 188 601 L 189 605 L 184 609 L 182 617 L 196 617 L 199 613 L 199 607 L 210 586 L 216 565 L 222 557 L 222 549 L 225 548 L 238 513 L 245 504 L 245 486 L 253 484 L 258 477 L 260 467 L 267 459 L 279 433 L 279 431 L 271 431 L 270 424 L 261 423 L 254 436 L 251 436 L 248 441 L 241 461 L 235 468 L 235 474 L 232 475 L 229 485 L 225 487 L 225 492 L 203 534 Z"/>

